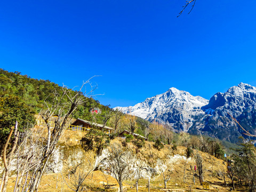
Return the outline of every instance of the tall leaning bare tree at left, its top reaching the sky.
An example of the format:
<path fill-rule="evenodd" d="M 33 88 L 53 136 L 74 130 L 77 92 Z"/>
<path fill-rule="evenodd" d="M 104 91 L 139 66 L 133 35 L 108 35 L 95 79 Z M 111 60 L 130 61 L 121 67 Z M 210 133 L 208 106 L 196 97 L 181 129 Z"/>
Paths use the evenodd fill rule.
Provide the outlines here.
<path fill-rule="evenodd" d="M 47 138 L 43 146 L 43 153 L 40 154 L 39 164 L 35 167 L 33 178 L 31 179 L 29 187 L 31 192 L 37 191 L 49 159 L 53 154 L 63 130 L 66 129 L 69 118 L 76 108 L 87 100 L 87 97 L 92 96 L 95 87 L 93 88 L 91 86 L 89 93 L 86 93 L 86 91 L 82 92 L 83 87 L 85 87 L 86 90 L 86 84 L 91 85 L 90 79 L 84 82 L 80 90 L 75 94 L 74 92 L 71 92 L 67 86 L 63 86 L 61 94 L 57 91 L 53 93 L 54 100 L 51 105 L 48 105 L 47 102 L 45 102 L 47 109 L 44 113 L 41 113 L 41 117 L 44 119 L 47 126 Z M 65 101 L 65 99 L 67 101 Z M 53 117 L 53 115 L 57 115 L 57 117 Z M 51 121 L 54 121 L 54 127 L 51 126 Z"/>

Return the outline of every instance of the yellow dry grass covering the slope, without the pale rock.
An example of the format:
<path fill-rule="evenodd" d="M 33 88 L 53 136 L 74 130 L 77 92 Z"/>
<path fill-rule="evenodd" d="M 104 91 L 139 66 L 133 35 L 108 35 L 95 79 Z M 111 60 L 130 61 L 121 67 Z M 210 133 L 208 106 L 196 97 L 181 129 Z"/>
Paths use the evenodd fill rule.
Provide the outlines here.
<path fill-rule="evenodd" d="M 42 127 L 36 127 L 36 129 L 43 129 Z M 66 130 L 61 139 L 60 143 L 67 146 L 79 145 L 79 140 L 85 133 L 77 131 Z M 111 143 L 121 144 L 123 139 L 117 138 Z M 167 170 L 170 172 L 171 179 L 167 182 L 167 189 L 164 188 L 163 175 L 156 175 L 154 179 L 150 180 L 150 191 L 204 191 L 202 186 L 199 185 L 198 177 L 195 177 L 195 183 L 193 181 L 193 171 L 190 170 L 194 167 L 194 158 L 186 158 L 186 147 L 178 147 L 177 150 L 173 150 L 171 145 L 165 145 L 163 149 L 157 150 L 153 147 L 153 142 L 146 141 L 146 146 L 138 149 L 132 143 L 127 144 L 127 148 L 133 150 L 134 155 L 137 156 L 143 162 L 154 167 L 156 166 L 157 159 L 165 161 L 169 158 L 169 165 Z M 194 151 L 195 152 L 195 151 Z M 229 191 L 231 186 L 223 185 L 223 178 L 219 174 L 221 171 L 226 170 L 226 162 L 221 159 L 217 159 L 209 154 L 198 151 L 204 159 L 204 179 L 211 183 L 211 191 Z M 63 159 L 65 161 L 65 159 Z M 62 173 L 68 185 L 71 185 L 70 179 L 68 179 L 67 173 Z M 57 192 L 57 191 L 73 191 L 68 188 L 62 178 L 61 173 L 45 174 L 42 178 L 41 185 L 38 191 L 45 192 Z M 185 180 L 185 182 L 183 182 Z M 109 182 L 110 189 L 105 190 L 103 183 Z M 227 183 L 230 180 L 226 177 Z M 15 178 L 11 177 L 9 180 L 9 186 L 7 191 L 13 191 Z M 86 190 L 85 191 L 118 191 L 118 183 L 116 179 L 110 175 L 104 175 L 101 171 L 94 171 L 89 174 L 85 180 Z M 147 189 L 148 179 L 139 180 L 139 191 L 148 191 Z M 136 191 L 135 180 L 124 181 L 124 188 L 126 191 Z M 243 189 L 241 189 L 242 191 Z"/>

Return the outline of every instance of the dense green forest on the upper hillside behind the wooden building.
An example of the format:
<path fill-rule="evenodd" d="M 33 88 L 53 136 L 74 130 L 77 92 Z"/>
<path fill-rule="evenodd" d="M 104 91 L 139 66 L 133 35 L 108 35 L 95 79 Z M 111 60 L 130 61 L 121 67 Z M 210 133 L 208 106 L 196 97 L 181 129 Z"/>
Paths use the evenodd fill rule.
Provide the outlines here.
<path fill-rule="evenodd" d="M 62 92 L 62 86 L 49 80 L 34 79 L 27 75 L 21 75 L 20 72 L 9 72 L 0 69 L 0 97 L 16 95 L 21 98 L 26 105 L 33 107 L 38 113 L 44 108 L 44 101 L 51 103 L 53 101 L 53 91 Z M 75 93 L 76 91 L 71 92 Z M 98 108 L 102 111 L 109 110 L 108 106 L 103 106 L 99 101 L 93 98 L 87 98 L 83 106 L 79 106 L 75 118 L 92 119 L 91 109 Z M 99 114 L 96 121 L 100 123 L 101 115 Z"/>

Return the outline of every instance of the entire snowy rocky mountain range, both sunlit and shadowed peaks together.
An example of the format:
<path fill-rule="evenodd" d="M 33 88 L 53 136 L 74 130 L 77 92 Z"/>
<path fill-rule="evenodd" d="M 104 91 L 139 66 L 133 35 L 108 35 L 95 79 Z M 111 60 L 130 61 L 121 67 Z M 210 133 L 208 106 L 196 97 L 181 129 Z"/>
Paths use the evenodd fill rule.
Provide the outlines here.
<path fill-rule="evenodd" d="M 256 87 L 240 83 L 226 93 L 216 93 L 210 101 L 186 91 L 171 88 L 130 107 L 117 107 L 126 114 L 172 126 L 175 132 L 204 134 L 237 142 L 243 130 L 231 114 L 250 133 L 256 134 Z M 243 134 L 245 137 L 245 135 Z"/>

